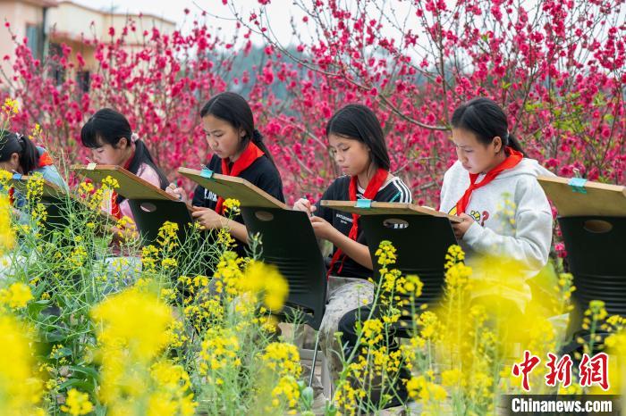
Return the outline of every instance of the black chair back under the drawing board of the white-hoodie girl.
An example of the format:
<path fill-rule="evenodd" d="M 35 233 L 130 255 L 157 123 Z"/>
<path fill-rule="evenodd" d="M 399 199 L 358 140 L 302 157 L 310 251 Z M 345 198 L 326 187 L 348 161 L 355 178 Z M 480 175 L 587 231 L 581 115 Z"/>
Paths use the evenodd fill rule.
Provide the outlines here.
<path fill-rule="evenodd" d="M 424 283 L 419 303 L 435 304 L 444 289 L 445 254 L 457 244 L 450 221 L 429 215 L 362 215 L 360 223 L 376 268 L 376 249 L 384 240 L 392 242 L 397 262 L 394 269 L 402 275 L 416 274 Z"/>

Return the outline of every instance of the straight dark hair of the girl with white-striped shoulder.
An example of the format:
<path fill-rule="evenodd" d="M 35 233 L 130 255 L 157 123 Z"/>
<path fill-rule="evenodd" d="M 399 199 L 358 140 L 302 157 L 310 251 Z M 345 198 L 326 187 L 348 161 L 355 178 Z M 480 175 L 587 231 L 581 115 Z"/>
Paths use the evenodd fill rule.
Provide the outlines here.
<path fill-rule="evenodd" d="M 326 124 L 326 136 L 349 137 L 369 147 L 370 157 L 376 168 L 389 171 L 389 153 L 385 133 L 376 114 L 361 104 L 348 104 L 333 114 Z"/>

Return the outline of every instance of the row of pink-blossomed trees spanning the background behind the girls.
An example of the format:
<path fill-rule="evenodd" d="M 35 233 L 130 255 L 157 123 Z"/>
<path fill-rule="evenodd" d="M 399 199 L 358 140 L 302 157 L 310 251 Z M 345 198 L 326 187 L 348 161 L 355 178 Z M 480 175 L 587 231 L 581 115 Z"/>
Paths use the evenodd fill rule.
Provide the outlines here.
<path fill-rule="evenodd" d="M 384 123 L 393 171 L 416 202 L 436 205 L 455 159 L 450 116 L 461 102 L 490 96 L 529 155 L 557 174 L 577 169 L 624 182 L 623 0 L 396 0 L 384 8 L 373 0 L 297 0 L 302 17 L 292 25 L 300 43 L 289 47 L 273 35 L 269 1 L 247 15 L 223 3 L 238 20 L 233 39 L 216 37 L 206 20 L 186 35 L 139 33 L 129 21 L 109 39 L 86 39 L 98 62 L 89 93 L 72 79 L 55 85 L 46 76 L 50 64 L 72 67 L 68 47 L 38 62 L 15 39 L 17 75 L 8 81 L 26 110 L 16 121 L 24 129 L 40 123 L 51 144 L 78 157 L 82 122 L 113 105 L 173 177 L 177 167 L 207 159 L 199 129 L 207 97 L 245 88 L 293 199 L 318 196 L 338 174 L 326 121 L 343 104 L 361 102 Z M 129 49 L 129 37 L 140 47 Z M 264 54 L 252 71 L 239 71 L 255 37 L 265 41 Z"/>

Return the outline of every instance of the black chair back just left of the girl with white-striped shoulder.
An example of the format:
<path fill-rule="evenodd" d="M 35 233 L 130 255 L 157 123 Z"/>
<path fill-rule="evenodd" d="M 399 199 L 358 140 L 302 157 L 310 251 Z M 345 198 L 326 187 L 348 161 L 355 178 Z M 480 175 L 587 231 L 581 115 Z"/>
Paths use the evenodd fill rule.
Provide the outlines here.
<path fill-rule="evenodd" d="M 249 234 L 260 234 L 261 258 L 287 279 L 289 296 L 283 314 L 297 308 L 305 323 L 319 329 L 326 308 L 326 266 L 306 212 L 241 207 Z"/>

